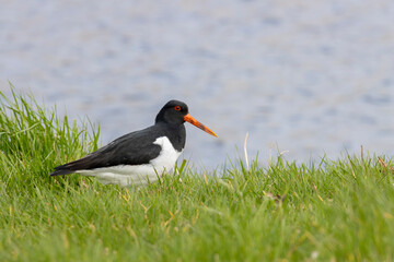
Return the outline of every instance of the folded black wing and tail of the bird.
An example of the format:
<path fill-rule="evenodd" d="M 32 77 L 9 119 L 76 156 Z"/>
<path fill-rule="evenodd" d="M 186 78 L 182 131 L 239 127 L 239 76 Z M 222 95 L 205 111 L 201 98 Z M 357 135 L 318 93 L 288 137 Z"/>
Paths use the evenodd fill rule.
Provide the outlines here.
<path fill-rule="evenodd" d="M 153 144 L 160 135 L 154 126 L 128 133 L 85 157 L 55 167 L 50 176 L 118 165 L 142 165 L 159 156 L 161 146 Z"/>

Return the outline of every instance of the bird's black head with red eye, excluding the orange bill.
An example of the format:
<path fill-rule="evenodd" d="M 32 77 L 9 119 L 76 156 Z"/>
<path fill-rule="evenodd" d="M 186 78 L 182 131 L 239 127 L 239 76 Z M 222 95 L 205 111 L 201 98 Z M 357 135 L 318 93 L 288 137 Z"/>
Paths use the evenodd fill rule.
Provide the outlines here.
<path fill-rule="evenodd" d="M 163 106 L 155 118 L 155 122 L 177 123 L 185 122 L 185 116 L 188 114 L 187 105 L 179 100 L 170 100 Z"/>

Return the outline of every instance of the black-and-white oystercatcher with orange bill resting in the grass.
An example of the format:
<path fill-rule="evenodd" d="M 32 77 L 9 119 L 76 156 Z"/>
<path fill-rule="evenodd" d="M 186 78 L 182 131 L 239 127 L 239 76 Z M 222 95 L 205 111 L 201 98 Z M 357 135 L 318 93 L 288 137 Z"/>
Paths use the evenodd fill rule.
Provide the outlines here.
<path fill-rule="evenodd" d="M 186 121 L 218 136 L 190 116 L 185 103 L 173 99 L 159 111 L 153 126 L 125 134 L 78 160 L 57 166 L 49 175 L 76 172 L 95 177 L 103 184 L 124 187 L 154 182 L 174 168 L 182 154 Z"/>

